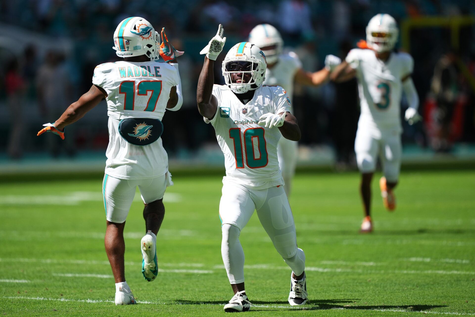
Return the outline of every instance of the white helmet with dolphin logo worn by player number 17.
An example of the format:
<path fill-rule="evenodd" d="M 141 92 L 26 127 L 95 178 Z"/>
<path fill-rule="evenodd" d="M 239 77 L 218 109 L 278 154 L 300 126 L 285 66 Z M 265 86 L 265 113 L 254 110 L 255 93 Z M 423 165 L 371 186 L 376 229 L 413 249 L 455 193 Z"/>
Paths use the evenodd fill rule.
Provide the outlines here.
<path fill-rule="evenodd" d="M 122 20 L 114 31 L 114 49 L 118 57 L 146 55 L 150 60 L 159 56 L 158 32 L 141 17 Z"/>

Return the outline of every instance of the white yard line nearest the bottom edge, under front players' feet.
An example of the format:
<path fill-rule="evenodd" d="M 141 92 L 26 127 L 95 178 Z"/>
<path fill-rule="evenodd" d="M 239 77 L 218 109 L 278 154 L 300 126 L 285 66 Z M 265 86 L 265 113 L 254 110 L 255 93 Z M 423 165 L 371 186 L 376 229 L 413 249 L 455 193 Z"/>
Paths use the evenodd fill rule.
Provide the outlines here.
<path fill-rule="evenodd" d="M 71 298 L 45 298 L 45 297 L 23 297 L 23 296 L 3 296 L 1 298 L 5 299 L 26 299 L 26 300 L 45 300 L 45 301 L 59 301 L 59 302 L 80 302 L 80 303 L 114 303 L 113 300 L 102 300 L 102 299 L 71 299 Z M 190 305 L 186 302 L 150 302 L 137 300 L 140 304 L 156 304 L 156 305 Z M 222 304 L 195 304 L 195 305 L 209 305 L 209 306 L 224 306 Z M 253 307 L 262 307 L 262 308 L 287 308 L 287 309 L 296 309 L 296 310 L 305 310 L 305 308 L 312 308 L 313 310 L 323 310 L 315 307 L 315 305 L 308 305 L 306 307 L 292 307 L 290 305 L 252 305 Z M 316 308 L 316 309 L 315 309 Z M 458 313 L 458 312 L 442 312 L 442 311 L 430 311 L 430 310 L 409 310 L 405 308 L 373 308 L 373 309 L 360 309 L 358 306 L 353 306 L 350 308 L 344 307 L 334 307 L 330 309 L 337 310 L 365 310 L 365 311 L 380 311 L 380 312 L 401 312 L 401 313 L 419 313 L 419 314 L 435 314 L 435 315 L 453 315 L 453 316 L 475 316 L 474 313 Z M 252 310 L 252 308 L 251 308 Z"/>

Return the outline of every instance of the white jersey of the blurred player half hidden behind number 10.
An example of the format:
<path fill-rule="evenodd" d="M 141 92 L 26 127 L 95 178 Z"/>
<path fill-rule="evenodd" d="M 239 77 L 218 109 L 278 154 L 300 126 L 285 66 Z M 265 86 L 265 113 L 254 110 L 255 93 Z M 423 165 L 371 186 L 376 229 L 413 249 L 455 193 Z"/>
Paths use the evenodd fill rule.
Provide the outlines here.
<path fill-rule="evenodd" d="M 294 98 L 294 78 L 302 63 L 294 52 L 282 53 L 272 68 L 267 67 L 264 84 L 269 86 L 281 86 L 287 91 L 290 100 Z M 290 113 L 292 113 L 292 108 Z"/>

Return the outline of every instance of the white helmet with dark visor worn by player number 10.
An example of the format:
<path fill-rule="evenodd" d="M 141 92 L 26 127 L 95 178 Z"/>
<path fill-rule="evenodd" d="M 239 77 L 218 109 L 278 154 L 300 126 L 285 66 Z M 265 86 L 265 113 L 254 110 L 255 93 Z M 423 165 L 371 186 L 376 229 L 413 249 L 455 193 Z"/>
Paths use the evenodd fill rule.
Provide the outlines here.
<path fill-rule="evenodd" d="M 224 81 L 237 94 L 244 94 L 257 89 L 266 77 L 266 55 L 260 48 L 250 42 L 241 42 L 233 46 L 224 58 L 222 70 Z M 234 83 L 232 74 L 242 74 L 242 81 Z M 251 74 L 248 82 L 244 75 Z"/>

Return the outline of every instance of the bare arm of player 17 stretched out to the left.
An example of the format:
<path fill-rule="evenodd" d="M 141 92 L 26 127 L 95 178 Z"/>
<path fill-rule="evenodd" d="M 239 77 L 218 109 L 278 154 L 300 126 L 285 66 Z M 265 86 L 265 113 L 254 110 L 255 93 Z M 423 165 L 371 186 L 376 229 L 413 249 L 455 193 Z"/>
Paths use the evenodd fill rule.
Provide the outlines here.
<path fill-rule="evenodd" d="M 92 85 L 91 89 L 79 99 L 67 107 L 66 111 L 55 122 L 55 127 L 63 130 L 66 125 L 70 125 L 81 119 L 89 110 L 97 106 L 107 97 L 107 93 L 101 87 Z"/>

